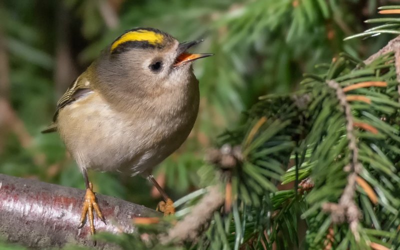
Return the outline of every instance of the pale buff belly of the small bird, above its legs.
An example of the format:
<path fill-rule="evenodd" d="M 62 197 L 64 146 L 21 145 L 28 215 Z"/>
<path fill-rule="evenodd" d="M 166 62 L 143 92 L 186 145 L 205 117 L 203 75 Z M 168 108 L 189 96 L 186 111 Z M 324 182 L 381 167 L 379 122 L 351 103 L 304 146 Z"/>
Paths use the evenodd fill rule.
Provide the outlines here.
<path fill-rule="evenodd" d="M 193 115 L 190 111 L 168 122 L 152 114 L 141 114 L 145 119 L 133 115 L 126 120 L 103 101 L 82 99 L 60 112 L 67 113 L 59 117 L 68 118 L 57 121 L 58 131 L 81 168 L 120 170 L 133 175 L 151 170 L 181 145 L 197 110 L 194 118 L 186 122 L 180 120 L 184 117 L 181 115 Z"/>

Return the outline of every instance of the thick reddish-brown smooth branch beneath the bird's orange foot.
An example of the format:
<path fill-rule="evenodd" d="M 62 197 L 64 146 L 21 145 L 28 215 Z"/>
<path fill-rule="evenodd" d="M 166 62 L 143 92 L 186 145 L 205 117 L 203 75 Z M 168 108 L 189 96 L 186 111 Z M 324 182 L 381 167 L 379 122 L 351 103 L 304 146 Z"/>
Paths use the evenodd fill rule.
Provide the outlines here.
<path fill-rule="evenodd" d="M 78 229 L 84 190 L 0 174 L 0 238 L 31 248 L 91 245 L 90 229 Z M 132 219 L 158 216 L 142 205 L 97 193 L 106 224 L 95 217 L 97 231 L 134 232 Z M 97 241 L 97 247 L 115 248 Z"/>

